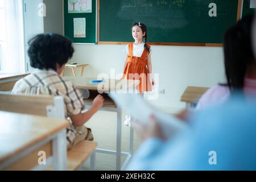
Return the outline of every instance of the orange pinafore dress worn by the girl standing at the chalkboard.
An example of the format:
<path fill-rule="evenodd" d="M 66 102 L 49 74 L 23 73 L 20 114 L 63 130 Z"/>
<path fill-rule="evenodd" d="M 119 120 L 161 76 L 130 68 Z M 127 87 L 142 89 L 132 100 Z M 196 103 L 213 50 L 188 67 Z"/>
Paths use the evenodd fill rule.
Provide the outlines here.
<path fill-rule="evenodd" d="M 149 45 L 147 45 L 150 48 Z M 133 56 L 133 43 L 129 44 L 129 55 L 125 70 L 123 71 L 123 78 L 127 80 L 139 80 L 137 90 L 139 92 L 152 91 L 150 82 L 150 75 L 148 75 L 147 69 L 147 55 L 148 51 L 144 49 L 141 57 Z"/>

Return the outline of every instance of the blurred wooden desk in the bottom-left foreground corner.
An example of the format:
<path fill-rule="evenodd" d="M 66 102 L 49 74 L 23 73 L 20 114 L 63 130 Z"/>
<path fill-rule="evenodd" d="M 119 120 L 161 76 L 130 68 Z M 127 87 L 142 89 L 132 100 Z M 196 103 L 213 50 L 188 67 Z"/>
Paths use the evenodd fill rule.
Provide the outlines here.
<path fill-rule="evenodd" d="M 64 119 L 0 111 L 0 169 L 43 169 L 46 165 L 38 165 L 38 151 L 45 151 L 47 164 L 65 170 L 68 125 Z"/>

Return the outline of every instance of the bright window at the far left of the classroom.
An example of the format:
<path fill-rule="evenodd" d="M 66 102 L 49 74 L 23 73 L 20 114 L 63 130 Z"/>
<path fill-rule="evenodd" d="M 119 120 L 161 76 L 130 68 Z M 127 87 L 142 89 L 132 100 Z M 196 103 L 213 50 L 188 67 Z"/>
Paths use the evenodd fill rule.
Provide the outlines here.
<path fill-rule="evenodd" d="M 22 1 L 0 0 L 0 71 L 24 72 Z"/>

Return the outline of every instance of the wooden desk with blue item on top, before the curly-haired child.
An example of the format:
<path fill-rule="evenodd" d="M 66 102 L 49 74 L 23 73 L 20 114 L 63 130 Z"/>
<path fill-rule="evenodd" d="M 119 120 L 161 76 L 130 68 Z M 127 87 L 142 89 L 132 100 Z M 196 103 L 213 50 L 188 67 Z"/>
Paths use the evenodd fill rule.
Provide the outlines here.
<path fill-rule="evenodd" d="M 88 89 L 92 91 L 98 91 L 98 92 L 114 92 L 118 90 L 119 86 L 124 84 L 127 86 L 127 88 L 135 88 L 136 84 L 139 84 L 138 80 L 105 80 L 105 84 L 108 85 L 108 88 L 101 88 L 101 85 L 104 84 L 104 82 L 99 83 L 91 83 L 91 80 L 97 80 L 96 78 L 74 78 L 74 77 L 64 77 L 65 80 L 72 81 L 73 84 L 76 85 L 79 89 Z M 92 99 L 84 100 L 86 109 L 89 109 L 92 105 Z M 131 159 L 131 156 L 133 155 L 133 129 L 130 127 L 130 140 L 129 140 L 129 152 L 122 152 L 121 151 L 121 139 L 122 139 L 122 108 L 115 105 L 114 101 L 111 100 L 109 97 L 105 98 L 104 106 L 101 107 L 101 110 L 106 111 L 114 111 L 117 112 L 117 144 L 116 144 L 116 150 L 106 150 L 102 148 L 96 148 L 96 152 L 101 152 L 104 154 L 112 154 L 116 155 L 116 169 L 117 170 L 123 170 L 125 169 L 127 163 Z M 123 163 L 121 167 L 121 155 L 126 156 L 126 160 Z"/>

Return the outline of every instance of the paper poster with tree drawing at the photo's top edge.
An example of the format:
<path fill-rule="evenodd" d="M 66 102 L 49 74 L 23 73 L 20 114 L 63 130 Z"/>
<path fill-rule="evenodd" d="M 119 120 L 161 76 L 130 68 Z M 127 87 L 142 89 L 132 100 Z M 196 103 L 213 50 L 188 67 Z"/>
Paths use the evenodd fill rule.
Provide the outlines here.
<path fill-rule="evenodd" d="M 92 0 L 68 0 L 68 13 L 92 13 Z"/>

